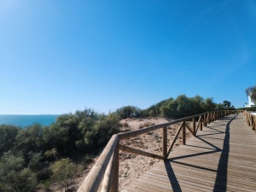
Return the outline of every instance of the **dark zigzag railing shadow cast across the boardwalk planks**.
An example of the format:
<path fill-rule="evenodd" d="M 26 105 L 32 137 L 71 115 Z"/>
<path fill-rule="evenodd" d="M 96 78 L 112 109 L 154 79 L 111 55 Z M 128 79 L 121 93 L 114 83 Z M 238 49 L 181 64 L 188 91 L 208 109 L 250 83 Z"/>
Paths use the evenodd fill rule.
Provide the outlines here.
<path fill-rule="evenodd" d="M 176 157 L 173 157 L 173 158 L 165 161 L 166 172 L 167 172 L 168 178 L 170 180 L 170 183 L 172 185 L 173 191 L 177 191 L 177 192 L 183 191 L 180 186 L 180 183 L 178 182 L 179 179 L 177 179 L 176 174 L 173 171 L 173 168 L 172 168 L 173 164 L 187 166 L 187 169 L 189 169 L 189 167 L 190 167 L 190 168 L 197 168 L 200 170 L 204 170 L 207 172 L 215 172 L 216 179 L 212 186 L 213 187 L 212 191 L 226 191 L 227 190 L 227 177 L 228 177 L 227 173 L 228 173 L 228 161 L 229 161 L 229 153 L 230 153 L 230 123 L 235 118 L 236 118 L 236 116 L 235 117 L 226 117 L 226 118 L 222 119 L 222 120 L 227 120 L 226 121 L 227 124 L 223 124 L 223 121 L 221 122 L 221 124 L 219 124 L 218 122 L 212 123 L 212 124 L 215 124 L 216 127 L 225 125 L 225 128 L 223 131 L 219 131 L 217 128 L 213 128 L 211 126 L 208 128 L 211 129 L 212 131 L 215 131 L 215 133 L 196 136 L 196 138 L 199 139 L 202 143 L 206 143 L 209 146 L 209 148 L 195 146 L 195 145 L 188 145 L 189 147 L 210 149 L 210 150 L 207 150 L 207 151 L 204 151 L 201 153 L 197 153 L 197 154 L 186 154 L 186 155 L 182 155 L 182 156 L 176 156 Z M 204 137 L 206 137 L 206 136 L 207 137 L 214 136 L 217 134 L 224 134 L 223 148 L 218 148 L 214 144 L 209 143 L 209 142 L 207 142 L 206 139 L 204 139 Z M 185 159 L 185 158 L 190 158 L 190 157 L 195 157 L 195 156 L 200 156 L 200 155 L 205 155 L 205 154 L 214 154 L 214 153 L 219 153 L 219 152 L 221 152 L 221 154 L 220 154 L 220 157 L 218 160 L 217 170 L 199 166 L 197 164 L 192 165 L 192 163 L 189 164 L 187 162 L 183 162 L 183 159 Z"/>

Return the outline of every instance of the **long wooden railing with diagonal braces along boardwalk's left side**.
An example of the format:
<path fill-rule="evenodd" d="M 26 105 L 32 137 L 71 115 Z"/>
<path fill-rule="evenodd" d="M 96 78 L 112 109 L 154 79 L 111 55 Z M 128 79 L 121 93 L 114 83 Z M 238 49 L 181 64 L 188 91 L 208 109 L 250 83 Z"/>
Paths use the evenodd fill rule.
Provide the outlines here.
<path fill-rule="evenodd" d="M 174 143 L 177 140 L 177 137 L 182 131 L 182 143 L 186 144 L 186 129 L 192 133 L 193 136 L 196 135 L 196 132 L 200 128 L 202 130 L 203 125 L 207 126 L 212 121 L 217 119 L 224 118 L 224 116 L 230 115 L 230 113 L 244 113 L 244 111 L 238 110 L 223 110 L 223 111 L 214 111 L 209 113 L 201 113 L 193 116 L 189 116 L 183 119 L 172 120 L 166 124 L 153 125 L 137 131 L 128 131 L 124 133 L 119 133 L 113 135 L 109 140 L 107 146 L 102 151 L 102 154 L 96 160 L 96 164 L 91 168 L 87 177 L 85 177 L 84 182 L 79 187 L 79 192 L 94 192 L 98 191 L 99 186 L 102 183 L 102 192 L 116 192 L 119 190 L 119 150 L 130 152 L 133 154 L 140 154 L 160 160 L 166 160 L 169 154 L 172 151 Z M 255 116 L 250 113 L 245 112 L 247 115 L 247 123 L 251 125 L 255 130 Z M 192 122 L 192 125 L 189 126 L 187 122 Z M 170 147 L 167 148 L 167 126 L 180 124 L 176 135 L 174 136 Z M 120 140 L 128 139 L 131 137 L 136 137 L 143 133 L 149 131 L 155 131 L 162 129 L 162 155 L 152 154 L 137 148 L 131 148 L 119 144 Z"/>

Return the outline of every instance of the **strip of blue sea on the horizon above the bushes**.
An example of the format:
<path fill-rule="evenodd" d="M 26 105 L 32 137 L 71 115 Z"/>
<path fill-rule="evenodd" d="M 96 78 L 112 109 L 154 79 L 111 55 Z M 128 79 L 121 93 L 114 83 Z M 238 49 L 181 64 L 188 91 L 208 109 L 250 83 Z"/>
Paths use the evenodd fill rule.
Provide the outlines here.
<path fill-rule="evenodd" d="M 17 125 L 21 128 L 30 126 L 33 124 L 40 125 L 51 125 L 56 122 L 56 118 L 60 116 L 58 114 L 38 114 L 38 115 L 28 115 L 28 114 L 0 114 L 0 125 Z"/>

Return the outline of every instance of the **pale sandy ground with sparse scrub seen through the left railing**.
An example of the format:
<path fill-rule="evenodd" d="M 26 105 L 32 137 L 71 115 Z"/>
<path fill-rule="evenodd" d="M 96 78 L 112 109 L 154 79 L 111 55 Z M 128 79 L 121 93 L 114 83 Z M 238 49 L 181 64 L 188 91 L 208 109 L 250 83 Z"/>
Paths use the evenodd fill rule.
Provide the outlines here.
<path fill-rule="evenodd" d="M 153 118 L 153 119 L 122 119 L 120 121 L 121 132 L 125 131 L 135 131 L 147 127 L 150 125 L 159 125 L 167 123 L 170 120 L 163 118 Z M 179 125 L 171 125 L 168 127 L 168 143 L 167 147 L 169 148 L 172 143 L 172 138 L 177 132 Z M 189 132 L 189 131 L 187 131 Z M 181 134 L 181 133 L 180 133 Z M 190 133 L 187 133 L 187 137 L 190 137 Z M 179 135 L 177 137 L 177 142 L 174 144 L 174 148 L 179 146 L 182 143 L 182 137 Z M 162 130 L 151 131 L 145 134 L 142 134 L 138 137 L 132 137 L 127 140 L 120 141 L 120 144 L 129 146 L 131 148 L 141 149 L 153 154 L 162 154 Z M 95 162 L 97 157 L 95 158 Z M 120 150 L 119 153 L 119 191 L 124 189 L 125 186 L 132 183 L 134 179 L 141 176 L 144 172 L 147 172 L 150 166 L 153 166 L 154 163 L 159 162 L 160 160 L 145 157 L 142 155 L 126 153 Z M 94 163 L 90 164 L 88 169 L 86 169 L 81 177 L 77 179 L 76 188 L 79 188 L 79 185 L 83 182 L 84 178 L 90 172 L 90 168 Z"/>

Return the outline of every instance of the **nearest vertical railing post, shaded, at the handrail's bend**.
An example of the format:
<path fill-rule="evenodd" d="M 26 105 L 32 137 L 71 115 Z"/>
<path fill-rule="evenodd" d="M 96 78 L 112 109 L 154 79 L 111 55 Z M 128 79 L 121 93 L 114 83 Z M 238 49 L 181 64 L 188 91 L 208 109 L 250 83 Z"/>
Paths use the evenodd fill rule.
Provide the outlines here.
<path fill-rule="evenodd" d="M 111 182 L 111 192 L 118 192 L 119 191 L 119 141 L 116 145 L 113 154 L 113 178 Z"/>

